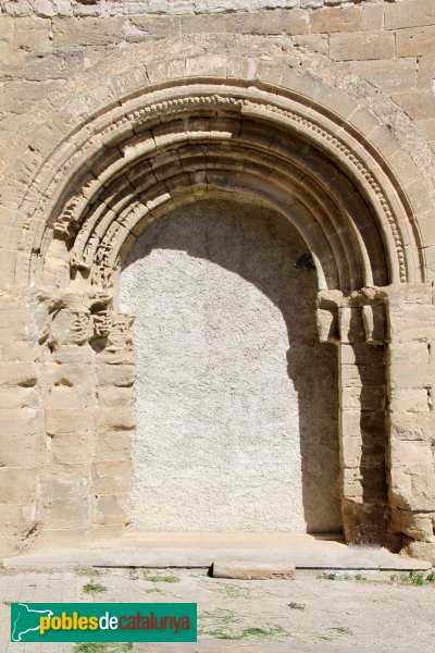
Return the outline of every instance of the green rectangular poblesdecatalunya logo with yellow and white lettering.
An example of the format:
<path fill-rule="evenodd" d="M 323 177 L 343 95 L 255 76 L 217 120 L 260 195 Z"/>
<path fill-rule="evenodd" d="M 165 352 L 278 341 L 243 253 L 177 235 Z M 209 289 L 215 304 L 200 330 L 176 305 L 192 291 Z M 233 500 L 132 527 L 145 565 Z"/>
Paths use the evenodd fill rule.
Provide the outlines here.
<path fill-rule="evenodd" d="M 11 642 L 196 642 L 196 603 L 12 603 Z"/>

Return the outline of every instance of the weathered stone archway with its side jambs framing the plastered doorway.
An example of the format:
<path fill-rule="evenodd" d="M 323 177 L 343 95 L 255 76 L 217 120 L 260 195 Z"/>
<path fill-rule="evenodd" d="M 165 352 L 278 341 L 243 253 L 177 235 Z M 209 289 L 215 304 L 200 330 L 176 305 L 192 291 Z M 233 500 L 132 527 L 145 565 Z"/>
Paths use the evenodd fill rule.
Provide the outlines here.
<path fill-rule="evenodd" d="M 175 39 L 174 59 L 163 65 L 146 51 L 146 67 L 139 48 L 113 77 L 108 69 L 107 93 L 97 78 L 82 95 L 69 90 L 55 114 L 61 136 L 42 108 L 20 137 L 17 169 L 3 184 L 14 218 L 4 283 L 32 324 L 32 365 L 24 378 L 21 366 L 17 383 L 37 389 L 40 421 L 27 445 L 34 467 L 8 465 L 28 486 L 25 523 L 42 543 L 125 528 L 135 366 L 117 275 L 154 220 L 228 194 L 278 211 L 314 261 L 319 338 L 339 354 L 347 541 L 433 537 L 424 485 L 432 377 L 419 367 L 415 382 L 400 367 L 403 337 L 419 356 L 430 353 L 425 186 L 363 94 L 356 100 L 330 86 L 332 69 L 325 81 L 260 52 L 247 61 L 234 40 L 233 54 L 216 41 L 208 44 L 214 54 L 185 59 Z M 424 306 L 418 334 L 410 300 Z M 415 407 L 427 412 L 418 430 Z"/>

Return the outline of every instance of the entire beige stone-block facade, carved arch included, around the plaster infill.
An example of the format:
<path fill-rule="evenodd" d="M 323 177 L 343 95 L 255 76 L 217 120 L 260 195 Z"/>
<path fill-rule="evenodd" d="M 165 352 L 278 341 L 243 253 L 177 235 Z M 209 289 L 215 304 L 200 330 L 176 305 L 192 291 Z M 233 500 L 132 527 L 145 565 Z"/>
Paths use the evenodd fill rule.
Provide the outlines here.
<path fill-rule="evenodd" d="M 116 280 L 153 220 L 228 194 L 313 257 L 348 541 L 433 540 L 434 3 L 239 4 L 0 4 L 1 551 L 125 528 Z"/>

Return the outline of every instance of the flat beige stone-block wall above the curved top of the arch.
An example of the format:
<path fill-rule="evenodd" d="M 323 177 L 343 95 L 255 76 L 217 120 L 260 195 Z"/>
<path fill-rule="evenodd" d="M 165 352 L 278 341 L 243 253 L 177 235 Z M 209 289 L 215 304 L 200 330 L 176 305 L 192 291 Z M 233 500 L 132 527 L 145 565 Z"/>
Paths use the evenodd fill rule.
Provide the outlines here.
<path fill-rule="evenodd" d="M 283 37 L 366 79 L 435 140 L 435 4 L 432 0 L 150 1 L 0 3 L 0 139 L 21 114 L 136 44 L 192 34 Z M 276 60 L 283 56 L 276 49 Z M 0 140 L 1 143 L 1 140 Z M 434 145 L 433 145 L 434 147 Z"/>

